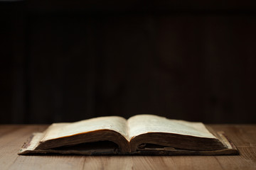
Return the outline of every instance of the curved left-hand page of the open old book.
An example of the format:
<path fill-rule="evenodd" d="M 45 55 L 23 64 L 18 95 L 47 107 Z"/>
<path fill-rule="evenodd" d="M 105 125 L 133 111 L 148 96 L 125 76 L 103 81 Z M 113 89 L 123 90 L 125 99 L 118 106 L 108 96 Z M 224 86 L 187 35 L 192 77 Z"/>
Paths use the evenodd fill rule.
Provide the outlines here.
<path fill-rule="evenodd" d="M 114 130 L 128 139 L 127 120 L 119 116 L 106 116 L 75 123 L 53 123 L 46 130 L 41 142 L 96 130 Z"/>

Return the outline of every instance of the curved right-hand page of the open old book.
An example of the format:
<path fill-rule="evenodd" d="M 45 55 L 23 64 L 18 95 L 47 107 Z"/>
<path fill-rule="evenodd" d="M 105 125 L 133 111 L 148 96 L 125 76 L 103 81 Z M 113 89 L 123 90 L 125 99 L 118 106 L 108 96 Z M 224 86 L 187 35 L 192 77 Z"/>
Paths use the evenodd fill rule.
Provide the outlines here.
<path fill-rule="evenodd" d="M 127 120 L 129 140 L 148 132 L 166 132 L 195 137 L 216 138 L 203 125 L 184 120 L 171 120 L 157 115 L 135 115 Z"/>

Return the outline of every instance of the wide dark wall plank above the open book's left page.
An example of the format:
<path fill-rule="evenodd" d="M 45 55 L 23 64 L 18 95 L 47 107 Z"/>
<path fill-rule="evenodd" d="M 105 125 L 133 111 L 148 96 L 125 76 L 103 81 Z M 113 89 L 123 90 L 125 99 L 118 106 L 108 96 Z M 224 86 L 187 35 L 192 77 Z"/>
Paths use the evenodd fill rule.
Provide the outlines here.
<path fill-rule="evenodd" d="M 87 16 L 31 16 L 28 123 L 95 117 L 91 20 Z"/>

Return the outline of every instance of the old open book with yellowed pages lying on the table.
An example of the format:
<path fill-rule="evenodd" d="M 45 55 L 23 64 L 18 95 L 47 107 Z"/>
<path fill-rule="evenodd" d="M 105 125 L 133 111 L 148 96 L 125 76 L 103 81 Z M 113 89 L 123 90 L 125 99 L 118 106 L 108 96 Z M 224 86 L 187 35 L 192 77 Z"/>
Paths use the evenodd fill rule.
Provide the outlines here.
<path fill-rule="evenodd" d="M 223 132 L 203 123 L 171 120 L 157 115 L 135 115 L 128 120 L 107 116 L 75 123 L 53 123 L 33 133 L 18 154 L 238 154 Z"/>

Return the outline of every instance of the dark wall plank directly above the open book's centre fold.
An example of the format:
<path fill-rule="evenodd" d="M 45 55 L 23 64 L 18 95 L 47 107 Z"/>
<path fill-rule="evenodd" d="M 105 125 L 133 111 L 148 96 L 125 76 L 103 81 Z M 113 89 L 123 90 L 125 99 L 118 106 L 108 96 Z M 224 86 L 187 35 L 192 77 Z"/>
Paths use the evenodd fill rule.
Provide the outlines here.
<path fill-rule="evenodd" d="M 97 115 L 159 111 L 158 82 L 154 74 L 154 19 L 151 16 L 100 17 L 98 45 L 101 61 L 96 83 Z"/>

